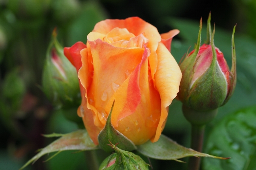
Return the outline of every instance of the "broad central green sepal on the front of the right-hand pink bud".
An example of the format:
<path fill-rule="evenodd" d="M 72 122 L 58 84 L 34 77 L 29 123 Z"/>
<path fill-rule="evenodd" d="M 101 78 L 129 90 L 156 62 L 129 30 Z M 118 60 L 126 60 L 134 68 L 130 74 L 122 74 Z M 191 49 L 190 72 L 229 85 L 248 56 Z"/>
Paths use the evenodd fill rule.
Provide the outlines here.
<path fill-rule="evenodd" d="M 227 96 L 227 80 L 217 63 L 217 55 L 213 42 L 215 28 L 213 28 L 211 47 L 212 63 L 207 71 L 192 85 L 186 106 L 195 111 L 211 111 L 220 107 Z"/>

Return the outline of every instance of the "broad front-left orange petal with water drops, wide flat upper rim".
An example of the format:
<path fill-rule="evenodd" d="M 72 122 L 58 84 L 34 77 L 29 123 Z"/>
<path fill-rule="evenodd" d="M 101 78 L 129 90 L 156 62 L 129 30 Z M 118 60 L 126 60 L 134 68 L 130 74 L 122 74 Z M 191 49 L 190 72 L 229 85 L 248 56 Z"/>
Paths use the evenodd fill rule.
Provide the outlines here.
<path fill-rule="evenodd" d="M 127 72 L 130 74 L 140 64 L 143 48 L 114 47 L 100 39 L 88 40 L 88 43 L 93 57 L 94 74 L 87 95 L 88 98 L 93 99 L 94 108 L 98 111 L 104 109 L 108 114 L 110 109 L 105 109 L 105 106 L 127 79 Z M 99 117 L 104 125 L 105 120 L 101 119 L 102 114 L 99 112 L 96 113 L 98 114 L 96 119 Z M 96 126 L 100 126 L 100 124 Z"/>

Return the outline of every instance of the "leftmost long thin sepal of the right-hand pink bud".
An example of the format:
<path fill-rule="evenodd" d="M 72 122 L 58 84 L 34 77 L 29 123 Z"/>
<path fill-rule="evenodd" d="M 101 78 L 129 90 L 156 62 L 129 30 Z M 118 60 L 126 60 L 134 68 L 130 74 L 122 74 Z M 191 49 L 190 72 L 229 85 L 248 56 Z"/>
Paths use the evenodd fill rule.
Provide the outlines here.
<path fill-rule="evenodd" d="M 194 65 L 195 65 L 195 62 L 197 62 L 197 55 L 201 45 L 202 26 L 203 26 L 203 22 L 201 18 L 199 32 L 198 32 L 198 40 L 195 47 L 195 51 L 190 56 L 187 55 L 183 60 L 183 62 L 180 64 L 182 79 L 180 82 L 180 88 L 179 88 L 180 91 L 178 92 L 177 96 L 181 102 L 183 102 L 186 99 L 186 97 L 189 96 L 190 83 L 194 75 Z"/>

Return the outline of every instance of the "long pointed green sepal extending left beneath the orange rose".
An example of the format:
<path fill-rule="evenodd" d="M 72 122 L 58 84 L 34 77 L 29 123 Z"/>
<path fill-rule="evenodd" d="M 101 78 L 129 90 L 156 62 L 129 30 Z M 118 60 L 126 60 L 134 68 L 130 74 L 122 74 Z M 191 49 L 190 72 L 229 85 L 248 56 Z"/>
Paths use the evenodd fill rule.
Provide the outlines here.
<path fill-rule="evenodd" d="M 60 136 L 61 134 L 57 134 L 57 136 Z M 50 135 L 47 135 L 49 137 Z M 56 136 L 56 134 L 52 134 L 52 136 Z M 61 135 L 62 137 L 55 140 L 51 144 L 49 144 L 47 147 L 44 147 L 43 149 L 40 149 L 40 152 L 35 155 L 32 159 L 27 161 L 26 164 L 23 165 L 23 167 L 20 168 L 22 170 L 27 165 L 29 165 L 32 162 L 37 161 L 41 156 L 58 151 L 64 151 L 64 150 L 95 150 L 99 149 L 93 141 L 90 139 L 90 136 L 88 135 L 86 130 L 77 130 L 72 133 L 67 133 Z M 54 154 L 52 157 L 56 156 Z M 50 157 L 49 159 L 51 159 Z M 47 161 L 49 160 L 47 159 Z"/>

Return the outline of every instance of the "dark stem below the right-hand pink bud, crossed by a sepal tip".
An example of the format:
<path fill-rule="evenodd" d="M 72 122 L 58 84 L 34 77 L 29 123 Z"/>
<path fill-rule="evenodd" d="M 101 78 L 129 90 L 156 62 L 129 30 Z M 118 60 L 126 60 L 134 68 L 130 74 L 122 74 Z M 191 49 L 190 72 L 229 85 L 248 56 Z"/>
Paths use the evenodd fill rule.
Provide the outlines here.
<path fill-rule="evenodd" d="M 204 129 L 205 125 L 193 125 L 191 134 L 191 148 L 198 152 L 202 151 L 204 143 Z M 199 170 L 200 168 L 200 157 L 190 157 L 189 158 L 189 170 Z"/>

